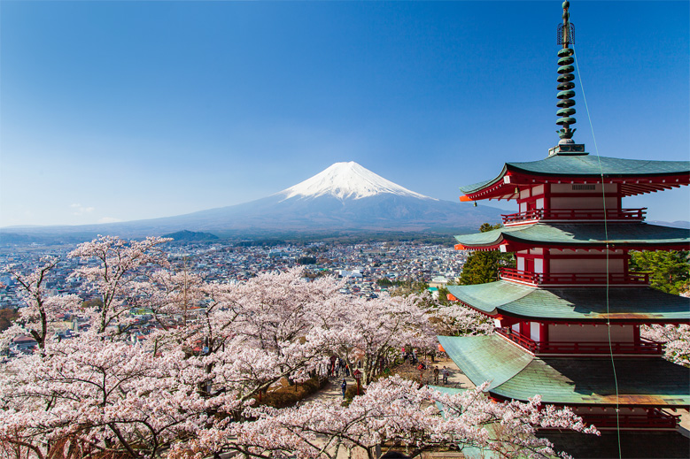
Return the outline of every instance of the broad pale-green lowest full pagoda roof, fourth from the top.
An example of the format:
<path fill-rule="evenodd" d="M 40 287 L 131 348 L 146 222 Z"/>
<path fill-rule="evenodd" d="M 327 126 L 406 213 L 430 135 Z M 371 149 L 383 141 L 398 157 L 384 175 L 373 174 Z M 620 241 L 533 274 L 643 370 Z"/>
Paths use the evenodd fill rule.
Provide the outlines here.
<path fill-rule="evenodd" d="M 490 381 L 487 392 L 508 400 L 570 405 L 690 405 L 690 369 L 661 357 L 616 360 L 609 357 L 538 358 L 499 335 L 448 337 L 438 341 L 475 384 Z"/>

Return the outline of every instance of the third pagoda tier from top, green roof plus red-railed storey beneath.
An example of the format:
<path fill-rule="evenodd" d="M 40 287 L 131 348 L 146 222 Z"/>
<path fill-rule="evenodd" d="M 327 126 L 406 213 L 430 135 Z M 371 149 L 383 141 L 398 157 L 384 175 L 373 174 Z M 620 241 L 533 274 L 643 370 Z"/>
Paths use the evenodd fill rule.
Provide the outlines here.
<path fill-rule="evenodd" d="M 499 280 L 448 287 L 448 299 L 493 319 L 496 333 L 536 356 L 663 355 L 641 325 L 690 324 L 690 298 L 649 287 L 529 287 Z"/>

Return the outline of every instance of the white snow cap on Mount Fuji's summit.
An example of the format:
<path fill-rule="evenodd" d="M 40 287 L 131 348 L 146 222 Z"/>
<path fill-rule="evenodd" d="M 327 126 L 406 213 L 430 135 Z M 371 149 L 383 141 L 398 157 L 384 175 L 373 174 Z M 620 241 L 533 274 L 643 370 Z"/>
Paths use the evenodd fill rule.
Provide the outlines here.
<path fill-rule="evenodd" d="M 276 195 L 284 195 L 284 199 L 331 195 L 345 200 L 381 194 L 412 196 L 418 199 L 438 201 L 435 198 L 410 191 L 406 187 L 400 187 L 391 180 L 385 180 L 354 161 L 332 164 L 311 179 L 284 189 Z"/>

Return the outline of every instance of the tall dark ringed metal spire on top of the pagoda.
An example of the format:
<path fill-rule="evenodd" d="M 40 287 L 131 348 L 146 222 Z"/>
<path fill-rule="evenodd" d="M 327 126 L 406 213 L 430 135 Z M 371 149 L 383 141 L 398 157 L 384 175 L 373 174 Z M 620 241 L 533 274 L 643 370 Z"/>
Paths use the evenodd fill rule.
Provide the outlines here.
<path fill-rule="evenodd" d="M 560 131 L 556 131 L 558 136 L 561 138 L 559 144 L 573 143 L 572 134 L 575 133 L 575 129 L 570 129 L 570 125 L 576 123 L 576 119 L 572 118 L 571 115 L 575 114 L 575 101 L 572 98 L 575 96 L 575 75 L 573 75 L 573 63 L 575 59 L 573 55 L 575 51 L 570 48 L 573 44 L 573 27 L 570 23 L 570 13 L 568 9 L 570 8 L 570 2 L 566 0 L 563 2 L 563 23 L 558 25 L 558 44 L 562 46 L 562 50 L 558 51 L 558 103 L 556 106 L 559 108 L 556 111 L 556 115 L 560 118 L 556 121 L 558 126 L 562 126 Z"/>

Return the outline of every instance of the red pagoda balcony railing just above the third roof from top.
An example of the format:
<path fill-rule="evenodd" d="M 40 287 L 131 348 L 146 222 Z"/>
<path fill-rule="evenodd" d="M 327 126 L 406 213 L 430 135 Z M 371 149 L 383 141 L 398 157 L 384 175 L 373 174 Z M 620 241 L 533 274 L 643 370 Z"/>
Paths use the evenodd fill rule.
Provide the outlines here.
<path fill-rule="evenodd" d="M 633 285 L 648 286 L 648 272 L 529 272 L 500 268 L 500 279 L 515 280 L 532 286 L 541 285 Z"/>

